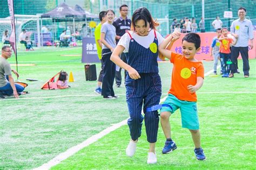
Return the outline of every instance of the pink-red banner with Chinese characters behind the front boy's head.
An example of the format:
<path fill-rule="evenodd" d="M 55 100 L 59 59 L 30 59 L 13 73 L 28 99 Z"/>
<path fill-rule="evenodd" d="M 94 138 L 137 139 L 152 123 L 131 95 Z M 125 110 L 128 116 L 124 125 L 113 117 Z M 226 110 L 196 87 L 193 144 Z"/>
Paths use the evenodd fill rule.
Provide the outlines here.
<path fill-rule="evenodd" d="M 211 54 L 211 44 L 212 39 L 217 36 L 215 32 L 207 32 L 207 33 L 198 33 L 201 38 L 201 50 L 196 54 L 195 58 L 197 60 L 213 60 L 210 56 Z M 181 38 L 179 38 L 176 42 L 174 42 L 171 51 L 180 53 L 182 51 L 181 41 L 185 34 L 181 34 Z M 256 58 L 256 31 L 254 31 L 254 39 L 253 39 L 253 49 L 249 50 L 249 58 Z M 239 56 L 241 59 L 241 56 Z"/>

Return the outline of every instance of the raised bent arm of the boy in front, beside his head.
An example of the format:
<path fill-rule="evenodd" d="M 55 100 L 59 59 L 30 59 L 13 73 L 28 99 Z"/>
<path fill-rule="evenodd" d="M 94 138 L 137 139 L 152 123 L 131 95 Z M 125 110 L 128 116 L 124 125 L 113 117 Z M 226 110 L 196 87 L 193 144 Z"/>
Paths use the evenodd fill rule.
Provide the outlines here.
<path fill-rule="evenodd" d="M 174 41 L 180 38 L 180 33 L 178 31 L 174 31 L 170 36 L 168 36 L 158 47 L 158 50 L 161 54 L 163 54 L 167 59 L 171 59 L 171 51 L 172 45 Z M 168 45 L 168 46 L 167 46 Z M 167 47 L 166 47 L 167 46 Z"/>

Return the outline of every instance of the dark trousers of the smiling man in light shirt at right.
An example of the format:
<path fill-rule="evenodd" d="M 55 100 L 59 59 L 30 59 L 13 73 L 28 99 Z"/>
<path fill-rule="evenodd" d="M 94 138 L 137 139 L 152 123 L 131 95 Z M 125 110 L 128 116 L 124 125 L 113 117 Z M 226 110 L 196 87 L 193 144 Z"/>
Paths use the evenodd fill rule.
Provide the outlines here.
<path fill-rule="evenodd" d="M 248 55 L 248 47 L 232 47 L 231 48 L 231 73 L 237 73 L 238 69 L 238 56 L 239 52 L 242 56 L 242 70 L 244 71 L 244 75 L 249 75 L 249 55 Z"/>

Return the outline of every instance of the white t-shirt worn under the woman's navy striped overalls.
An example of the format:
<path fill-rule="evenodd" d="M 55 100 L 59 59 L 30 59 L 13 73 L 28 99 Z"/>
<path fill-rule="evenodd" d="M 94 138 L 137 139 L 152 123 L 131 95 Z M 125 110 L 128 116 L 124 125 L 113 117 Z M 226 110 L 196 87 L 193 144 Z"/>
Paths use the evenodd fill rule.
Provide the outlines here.
<path fill-rule="evenodd" d="M 137 33 L 130 31 L 129 32 L 132 36 L 132 38 L 138 42 L 138 44 L 142 45 L 145 48 L 149 48 L 150 44 L 154 41 L 154 31 L 151 30 L 147 36 L 139 36 Z M 161 36 L 159 32 L 156 31 L 157 34 L 157 40 L 158 40 L 158 46 L 161 44 L 161 42 L 164 41 L 164 38 Z M 128 33 L 125 33 L 124 36 L 119 40 L 117 45 L 121 45 L 125 48 L 124 52 L 129 52 L 129 45 L 130 45 L 131 37 Z"/>

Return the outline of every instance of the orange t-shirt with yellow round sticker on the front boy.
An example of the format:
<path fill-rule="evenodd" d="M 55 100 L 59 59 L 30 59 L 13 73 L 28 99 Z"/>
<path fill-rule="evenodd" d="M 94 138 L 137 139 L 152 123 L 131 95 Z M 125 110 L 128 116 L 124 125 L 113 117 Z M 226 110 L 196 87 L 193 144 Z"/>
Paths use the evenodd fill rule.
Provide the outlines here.
<path fill-rule="evenodd" d="M 204 65 L 201 61 L 192 62 L 184 55 L 171 53 L 172 81 L 168 94 L 176 96 L 182 101 L 197 101 L 197 94 L 191 94 L 187 89 L 188 85 L 196 85 L 197 77 L 204 78 Z"/>

